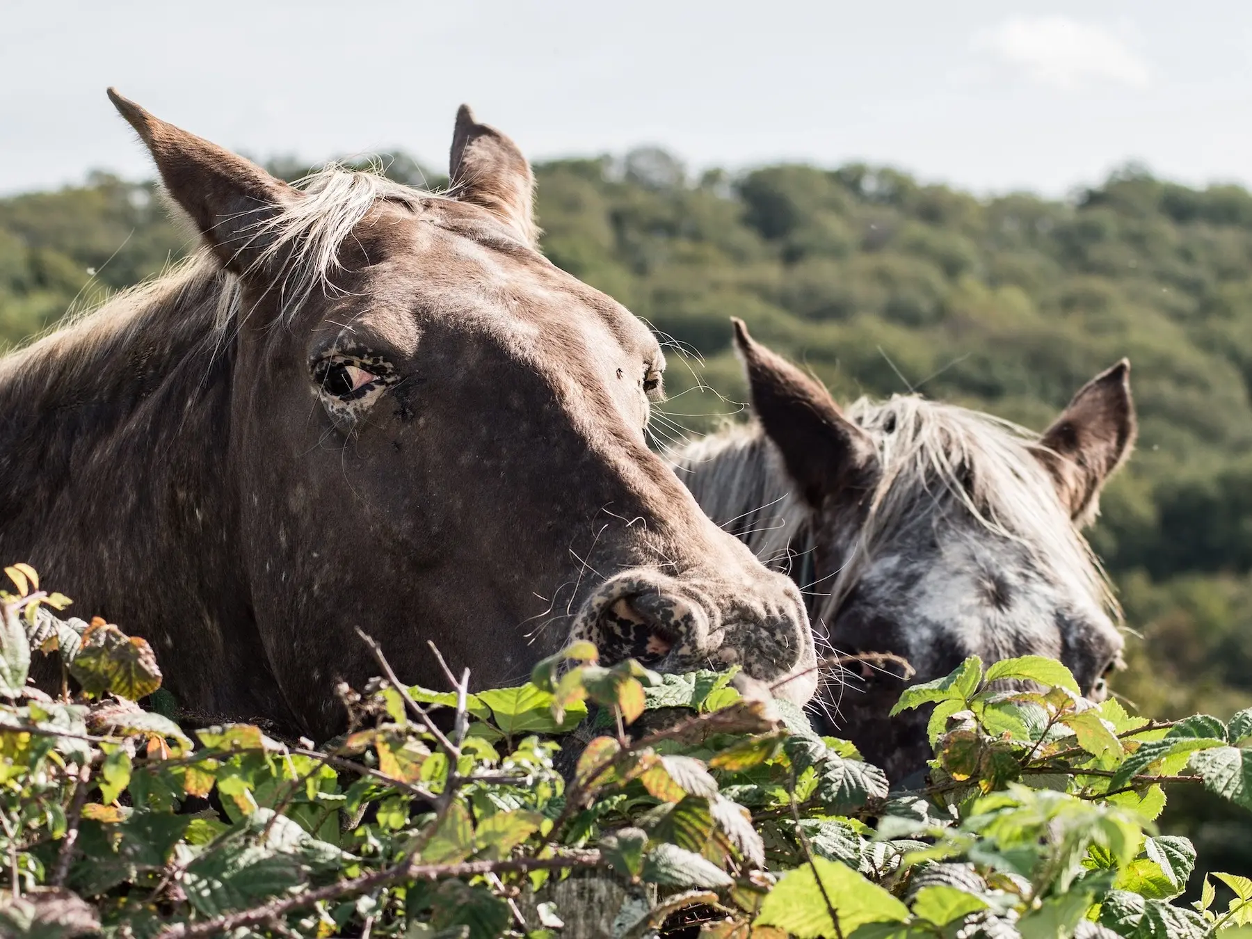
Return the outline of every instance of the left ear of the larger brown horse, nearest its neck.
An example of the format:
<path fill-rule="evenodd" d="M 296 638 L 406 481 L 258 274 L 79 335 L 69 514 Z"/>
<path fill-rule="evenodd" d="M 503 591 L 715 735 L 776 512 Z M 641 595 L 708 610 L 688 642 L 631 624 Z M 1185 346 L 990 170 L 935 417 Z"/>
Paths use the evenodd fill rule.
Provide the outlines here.
<path fill-rule="evenodd" d="M 109 89 L 146 144 L 162 182 L 229 270 L 244 273 L 269 243 L 264 223 L 302 198 L 257 164 L 154 118 Z"/>

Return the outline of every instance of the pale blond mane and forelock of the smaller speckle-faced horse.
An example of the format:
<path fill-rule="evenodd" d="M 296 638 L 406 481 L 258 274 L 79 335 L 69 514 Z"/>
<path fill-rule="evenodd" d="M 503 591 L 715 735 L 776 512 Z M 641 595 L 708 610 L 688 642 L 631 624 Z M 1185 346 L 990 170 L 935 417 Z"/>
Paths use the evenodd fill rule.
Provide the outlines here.
<path fill-rule="evenodd" d="M 846 416 L 873 441 L 880 473 L 820 613 L 838 610 L 875 551 L 964 510 L 980 530 L 1022 545 L 1042 568 L 1121 618 L 1108 576 L 1032 453 L 1039 434 L 918 394 L 860 398 Z M 764 562 L 786 570 L 813 550 L 814 511 L 794 492 L 759 424 L 689 443 L 671 461 L 700 506 Z"/>

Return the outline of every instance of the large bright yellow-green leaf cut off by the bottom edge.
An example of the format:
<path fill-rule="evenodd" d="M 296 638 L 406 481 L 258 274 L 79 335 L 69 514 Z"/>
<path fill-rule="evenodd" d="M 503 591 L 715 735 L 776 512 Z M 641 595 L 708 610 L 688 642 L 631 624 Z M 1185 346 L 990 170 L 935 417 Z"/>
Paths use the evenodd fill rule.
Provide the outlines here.
<path fill-rule="evenodd" d="M 834 935 L 835 924 L 830 920 L 814 870 L 821 876 L 821 885 L 839 915 L 844 935 L 868 923 L 903 923 L 908 919 L 908 908 L 878 884 L 845 864 L 814 858 L 811 865 L 782 875 L 761 903 L 756 921 L 785 929 L 799 939 Z"/>

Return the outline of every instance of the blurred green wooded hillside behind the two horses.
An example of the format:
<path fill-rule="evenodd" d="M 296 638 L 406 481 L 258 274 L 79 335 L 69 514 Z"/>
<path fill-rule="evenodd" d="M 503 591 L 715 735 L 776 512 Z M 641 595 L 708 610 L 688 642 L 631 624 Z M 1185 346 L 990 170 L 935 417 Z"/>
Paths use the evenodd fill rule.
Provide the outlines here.
<path fill-rule="evenodd" d="M 404 155 L 381 165 L 443 182 Z M 836 398 L 916 389 L 1034 428 L 1128 356 L 1139 448 L 1092 532 L 1134 630 L 1114 687 L 1162 717 L 1252 700 L 1252 193 L 1136 165 L 1065 202 L 861 164 L 691 178 L 655 148 L 536 173 L 548 257 L 670 339 L 662 441 L 742 414 L 731 316 Z M 192 244 L 151 183 L 0 199 L 0 341 Z M 1208 864 L 1252 873 L 1246 823 L 1202 796 L 1167 818 Z"/>

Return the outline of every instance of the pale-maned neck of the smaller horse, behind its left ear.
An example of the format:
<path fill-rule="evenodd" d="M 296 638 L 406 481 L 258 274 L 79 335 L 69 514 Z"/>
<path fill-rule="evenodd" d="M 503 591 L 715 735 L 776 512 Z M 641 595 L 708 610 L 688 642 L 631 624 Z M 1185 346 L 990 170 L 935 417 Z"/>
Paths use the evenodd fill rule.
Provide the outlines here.
<path fill-rule="evenodd" d="M 808 565 L 798 558 L 811 557 L 811 513 L 760 427 L 736 427 L 687 443 L 670 461 L 705 515 L 769 567 L 799 582 Z"/>

